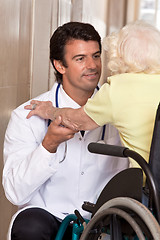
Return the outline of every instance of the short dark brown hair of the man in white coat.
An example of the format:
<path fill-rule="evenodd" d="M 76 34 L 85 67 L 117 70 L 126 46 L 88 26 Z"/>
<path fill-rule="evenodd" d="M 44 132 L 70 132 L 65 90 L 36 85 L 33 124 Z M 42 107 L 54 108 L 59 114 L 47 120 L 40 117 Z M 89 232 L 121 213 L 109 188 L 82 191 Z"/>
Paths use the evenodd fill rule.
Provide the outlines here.
<path fill-rule="evenodd" d="M 53 60 L 59 60 L 64 67 L 67 67 L 65 61 L 65 46 L 70 40 L 96 41 L 99 44 L 101 52 L 101 37 L 95 28 L 88 23 L 68 22 L 58 27 L 50 39 L 50 60 L 55 69 L 57 82 L 62 82 L 62 74 L 57 71 Z"/>

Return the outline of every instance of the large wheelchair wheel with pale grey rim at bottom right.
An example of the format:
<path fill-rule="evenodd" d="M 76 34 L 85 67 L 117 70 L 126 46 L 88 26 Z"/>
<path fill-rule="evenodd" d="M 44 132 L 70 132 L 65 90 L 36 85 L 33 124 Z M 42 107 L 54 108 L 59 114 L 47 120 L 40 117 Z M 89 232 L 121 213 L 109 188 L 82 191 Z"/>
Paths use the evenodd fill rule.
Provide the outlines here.
<path fill-rule="evenodd" d="M 128 211 L 136 214 L 136 220 L 131 217 L 132 214 L 128 214 Z M 105 237 L 102 238 L 101 235 L 109 229 L 110 216 L 114 214 L 120 216 L 121 219 L 125 220 L 131 226 L 138 239 L 145 239 L 145 237 L 154 240 L 160 239 L 160 226 L 152 213 L 143 204 L 134 199 L 119 197 L 106 202 L 100 207 L 87 224 L 80 240 L 106 239 Z M 142 226 L 138 224 L 137 217 L 143 223 Z"/>

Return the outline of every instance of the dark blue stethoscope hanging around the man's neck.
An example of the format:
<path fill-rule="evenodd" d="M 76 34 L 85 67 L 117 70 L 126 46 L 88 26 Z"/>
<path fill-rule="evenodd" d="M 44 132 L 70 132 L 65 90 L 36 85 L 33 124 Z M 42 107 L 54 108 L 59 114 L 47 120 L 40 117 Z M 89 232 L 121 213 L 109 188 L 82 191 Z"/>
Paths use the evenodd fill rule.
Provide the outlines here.
<path fill-rule="evenodd" d="M 56 93 L 55 93 L 55 103 L 56 103 L 56 108 L 59 108 L 59 103 L 58 103 L 58 94 L 59 94 L 59 89 L 60 89 L 61 83 L 58 83 L 57 88 L 56 88 Z M 99 90 L 99 87 L 96 87 L 97 90 Z M 48 127 L 51 123 L 51 120 L 48 120 Z M 102 129 L 102 136 L 101 136 L 101 140 L 98 142 L 104 143 L 104 136 L 105 136 L 105 130 L 106 130 L 106 125 L 103 126 Z M 64 156 L 63 159 L 59 161 L 59 163 L 63 162 L 66 158 L 66 154 L 67 154 L 67 141 L 65 141 L 65 149 L 64 149 Z"/>

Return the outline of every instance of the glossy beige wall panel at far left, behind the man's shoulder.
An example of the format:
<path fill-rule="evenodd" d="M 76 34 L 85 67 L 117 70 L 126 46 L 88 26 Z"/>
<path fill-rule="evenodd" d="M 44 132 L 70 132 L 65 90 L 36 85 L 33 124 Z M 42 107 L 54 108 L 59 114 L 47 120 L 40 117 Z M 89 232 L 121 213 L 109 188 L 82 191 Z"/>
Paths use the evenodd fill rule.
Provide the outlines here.
<path fill-rule="evenodd" d="M 10 113 L 30 97 L 31 3 L 31 0 L 0 0 L 0 177 L 3 138 Z M 6 240 L 14 211 L 0 184 L 1 240 Z"/>

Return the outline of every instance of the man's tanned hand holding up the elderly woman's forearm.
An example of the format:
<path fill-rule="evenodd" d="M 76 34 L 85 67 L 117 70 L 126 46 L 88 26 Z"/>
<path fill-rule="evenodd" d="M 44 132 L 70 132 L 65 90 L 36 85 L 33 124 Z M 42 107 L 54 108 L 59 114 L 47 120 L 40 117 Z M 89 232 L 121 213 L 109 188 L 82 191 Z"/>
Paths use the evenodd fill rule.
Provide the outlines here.
<path fill-rule="evenodd" d="M 57 150 L 57 147 L 60 143 L 67 141 L 74 137 L 74 134 L 77 131 L 73 131 L 69 128 L 63 127 L 61 117 L 57 117 L 54 122 L 48 127 L 48 131 L 42 141 L 43 147 L 51 152 L 54 153 Z"/>

